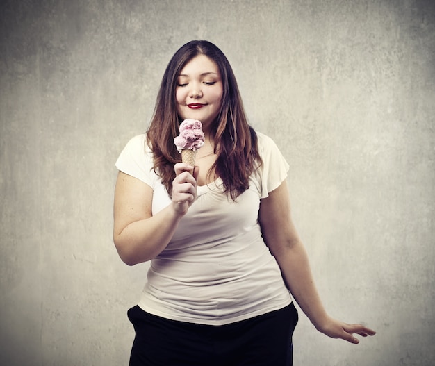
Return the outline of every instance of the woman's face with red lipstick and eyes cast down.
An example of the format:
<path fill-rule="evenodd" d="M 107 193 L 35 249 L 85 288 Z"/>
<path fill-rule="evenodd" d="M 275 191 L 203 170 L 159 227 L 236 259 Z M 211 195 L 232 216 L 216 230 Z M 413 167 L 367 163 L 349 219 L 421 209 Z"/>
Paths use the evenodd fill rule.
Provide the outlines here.
<path fill-rule="evenodd" d="M 192 58 L 178 75 L 175 97 L 181 119 L 192 118 L 209 130 L 219 114 L 222 80 L 216 63 L 204 55 Z"/>

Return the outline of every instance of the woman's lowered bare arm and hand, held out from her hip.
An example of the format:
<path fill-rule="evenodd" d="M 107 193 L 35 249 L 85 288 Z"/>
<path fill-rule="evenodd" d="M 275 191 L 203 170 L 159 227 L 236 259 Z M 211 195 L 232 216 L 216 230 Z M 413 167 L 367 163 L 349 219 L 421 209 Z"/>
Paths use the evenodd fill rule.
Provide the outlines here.
<path fill-rule="evenodd" d="M 352 343 L 359 342 L 352 333 L 363 337 L 374 335 L 374 331 L 361 324 L 345 324 L 327 315 L 315 288 L 304 245 L 291 220 L 286 182 L 261 200 L 259 219 L 265 242 L 277 259 L 284 281 L 315 328 L 329 337 Z"/>

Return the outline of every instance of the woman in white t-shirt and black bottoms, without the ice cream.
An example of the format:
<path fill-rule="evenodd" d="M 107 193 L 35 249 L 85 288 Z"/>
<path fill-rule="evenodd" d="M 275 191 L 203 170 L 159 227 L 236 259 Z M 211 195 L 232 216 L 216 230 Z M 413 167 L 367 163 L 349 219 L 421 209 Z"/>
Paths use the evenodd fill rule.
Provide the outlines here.
<path fill-rule="evenodd" d="M 195 167 L 174 145 L 187 118 L 205 135 Z M 128 265 L 151 260 L 129 310 L 130 365 L 292 365 L 292 297 L 330 337 L 375 334 L 325 312 L 290 218 L 288 165 L 247 123 L 214 44 L 192 41 L 174 54 L 147 133 L 116 166 L 115 246 Z"/>

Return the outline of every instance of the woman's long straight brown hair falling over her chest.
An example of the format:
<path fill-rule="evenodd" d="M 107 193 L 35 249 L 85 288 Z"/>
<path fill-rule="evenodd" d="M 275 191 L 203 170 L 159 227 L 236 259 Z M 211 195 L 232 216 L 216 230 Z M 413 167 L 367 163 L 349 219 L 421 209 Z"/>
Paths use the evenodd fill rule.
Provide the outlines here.
<path fill-rule="evenodd" d="M 224 192 L 235 200 L 249 188 L 249 176 L 261 165 L 261 158 L 256 133 L 247 122 L 236 76 L 227 57 L 215 44 L 204 40 L 191 41 L 172 56 L 158 91 L 147 131 L 147 144 L 153 151 L 154 171 L 171 195 L 174 164 L 181 161 L 174 144 L 181 122 L 177 115 L 175 88 L 181 69 L 199 55 L 205 55 L 217 64 L 223 87 L 220 113 L 211 130 L 217 159 L 208 173 L 214 171 L 224 182 Z"/>

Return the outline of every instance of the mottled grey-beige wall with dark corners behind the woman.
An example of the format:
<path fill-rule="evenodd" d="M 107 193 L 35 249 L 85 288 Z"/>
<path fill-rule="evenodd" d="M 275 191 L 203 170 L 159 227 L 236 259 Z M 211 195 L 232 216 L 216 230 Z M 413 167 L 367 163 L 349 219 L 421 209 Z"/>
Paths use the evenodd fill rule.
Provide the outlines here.
<path fill-rule="evenodd" d="M 117 155 L 168 60 L 215 42 L 252 125 L 290 163 L 329 313 L 296 365 L 434 365 L 433 1 L 2 1 L 0 364 L 126 365 L 147 264 L 112 242 Z"/>

